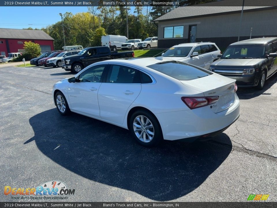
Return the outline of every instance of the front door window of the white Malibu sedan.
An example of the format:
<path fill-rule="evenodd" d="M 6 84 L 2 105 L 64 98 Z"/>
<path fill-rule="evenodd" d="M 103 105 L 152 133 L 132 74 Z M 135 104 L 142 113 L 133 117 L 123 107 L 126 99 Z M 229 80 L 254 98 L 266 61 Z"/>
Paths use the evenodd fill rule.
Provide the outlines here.
<path fill-rule="evenodd" d="M 79 82 L 100 82 L 106 64 L 92 66 L 78 77 Z"/>

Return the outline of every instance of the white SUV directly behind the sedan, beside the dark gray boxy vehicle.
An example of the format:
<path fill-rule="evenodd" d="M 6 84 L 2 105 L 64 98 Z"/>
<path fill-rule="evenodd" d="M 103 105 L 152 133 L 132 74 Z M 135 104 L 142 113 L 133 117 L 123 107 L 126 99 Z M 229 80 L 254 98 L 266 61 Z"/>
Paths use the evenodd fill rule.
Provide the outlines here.
<path fill-rule="evenodd" d="M 209 70 L 210 64 L 219 59 L 218 54 L 221 51 L 215 43 L 200 42 L 175 45 L 162 53 L 162 56 Z"/>

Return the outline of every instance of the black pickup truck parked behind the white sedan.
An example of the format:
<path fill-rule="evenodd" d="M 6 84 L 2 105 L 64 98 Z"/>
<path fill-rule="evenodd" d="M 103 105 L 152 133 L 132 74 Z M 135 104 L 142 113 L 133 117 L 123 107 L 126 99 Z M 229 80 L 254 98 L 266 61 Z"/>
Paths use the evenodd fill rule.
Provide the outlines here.
<path fill-rule="evenodd" d="M 111 49 L 105 46 L 90 47 L 83 49 L 77 55 L 67 56 L 63 58 L 61 60 L 61 67 L 65 69 L 65 71 L 78 73 L 83 68 L 95 62 L 128 57 L 134 57 L 134 51 L 111 52 Z"/>

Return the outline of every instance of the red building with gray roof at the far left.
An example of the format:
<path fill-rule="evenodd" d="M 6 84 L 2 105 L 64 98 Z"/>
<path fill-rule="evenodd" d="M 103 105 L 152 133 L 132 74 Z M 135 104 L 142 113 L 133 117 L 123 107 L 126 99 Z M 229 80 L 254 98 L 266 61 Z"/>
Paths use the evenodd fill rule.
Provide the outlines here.
<path fill-rule="evenodd" d="M 38 43 L 42 53 L 54 50 L 54 39 L 42 30 L 0 28 L 0 55 L 22 52 L 25 41 Z"/>

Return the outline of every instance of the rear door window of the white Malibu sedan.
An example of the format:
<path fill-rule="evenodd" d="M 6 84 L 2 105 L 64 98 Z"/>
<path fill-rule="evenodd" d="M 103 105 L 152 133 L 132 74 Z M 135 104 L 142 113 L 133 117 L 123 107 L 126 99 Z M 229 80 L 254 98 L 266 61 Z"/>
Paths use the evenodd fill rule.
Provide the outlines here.
<path fill-rule="evenodd" d="M 121 65 L 112 65 L 108 71 L 106 83 L 141 83 L 139 70 Z"/>

